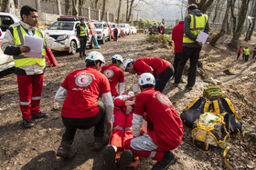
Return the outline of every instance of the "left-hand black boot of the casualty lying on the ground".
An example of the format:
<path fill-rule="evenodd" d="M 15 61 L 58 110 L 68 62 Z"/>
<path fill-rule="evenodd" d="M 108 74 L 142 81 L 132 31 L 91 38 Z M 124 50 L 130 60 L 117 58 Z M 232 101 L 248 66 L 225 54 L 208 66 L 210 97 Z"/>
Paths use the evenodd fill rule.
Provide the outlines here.
<path fill-rule="evenodd" d="M 105 170 L 117 170 L 118 167 L 115 164 L 115 150 L 112 145 L 107 145 L 103 151 L 103 162 Z"/>

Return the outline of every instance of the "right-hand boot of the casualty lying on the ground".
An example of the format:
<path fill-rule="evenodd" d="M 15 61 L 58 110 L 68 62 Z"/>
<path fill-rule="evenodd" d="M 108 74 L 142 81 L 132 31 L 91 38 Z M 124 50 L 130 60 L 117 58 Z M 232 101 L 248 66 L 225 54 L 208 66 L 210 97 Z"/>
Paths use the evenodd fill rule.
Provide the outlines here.
<path fill-rule="evenodd" d="M 133 162 L 133 153 L 131 150 L 123 151 L 120 155 L 120 159 L 117 161 L 118 169 L 124 170 L 128 165 Z"/>

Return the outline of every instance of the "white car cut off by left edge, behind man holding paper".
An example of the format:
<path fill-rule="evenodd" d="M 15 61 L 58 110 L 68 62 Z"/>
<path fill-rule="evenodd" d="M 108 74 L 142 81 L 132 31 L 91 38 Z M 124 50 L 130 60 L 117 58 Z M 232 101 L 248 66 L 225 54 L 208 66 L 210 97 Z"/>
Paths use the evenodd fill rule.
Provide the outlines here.
<path fill-rule="evenodd" d="M 16 17 L 16 15 L 0 12 L 0 28 L 1 28 L 0 29 L 1 31 L 0 45 L 2 44 L 3 38 L 5 36 L 5 32 L 8 29 L 8 27 L 18 21 L 19 20 Z M 13 56 L 5 55 L 3 50 L 0 48 L 0 72 L 14 66 L 15 66 L 15 63 L 14 63 Z"/>

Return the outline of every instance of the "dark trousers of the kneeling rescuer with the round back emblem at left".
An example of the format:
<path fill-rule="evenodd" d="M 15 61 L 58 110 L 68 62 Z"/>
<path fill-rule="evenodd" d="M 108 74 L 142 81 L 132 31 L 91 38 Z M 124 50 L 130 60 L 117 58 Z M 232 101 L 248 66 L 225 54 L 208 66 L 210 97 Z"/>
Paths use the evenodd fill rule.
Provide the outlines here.
<path fill-rule="evenodd" d="M 62 122 L 66 127 L 66 131 L 62 136 L 62 141 L 73 142 L 74 136 L 76 134 L 77 129 L 89 129 L 92 126 L 95 126 L 94 136 L 102 137 L 104 135 L 104 118 L 105 113 L 101 105 L 98 105 L 99 113 L 92 117 L 88 118 L 69 118 L 62 116 Z"/>

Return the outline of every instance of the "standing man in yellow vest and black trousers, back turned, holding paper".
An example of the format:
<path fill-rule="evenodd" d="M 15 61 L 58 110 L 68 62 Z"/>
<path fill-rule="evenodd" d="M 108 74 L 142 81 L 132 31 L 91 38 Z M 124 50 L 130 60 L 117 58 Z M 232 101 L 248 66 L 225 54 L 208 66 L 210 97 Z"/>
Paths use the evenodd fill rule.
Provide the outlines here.
<path fill-rule="evenodd" d="M 185 17 L 184 22 L 184 36 L 183 36 L 183 48 L 181 59 L 176 70 L 175 86 L 177 86 L 181 80 L 184 66 L 189 58 L 190 67 L 187 77 L 187 89 L 192 90 L 192 87 L 196 84 L 197 75 L 197 61 L 202 45 L 207 39 L 206 34 L 209 32 L 208 15 L 203 15 L 197 5 L 188 6 L 188 15 Z M 206 34 L 198 34 L 204 32 Z"/>

